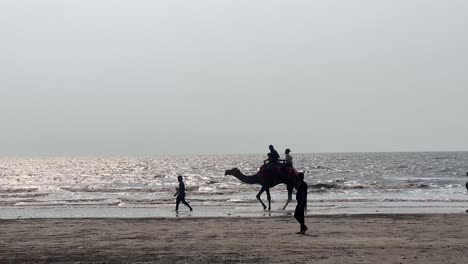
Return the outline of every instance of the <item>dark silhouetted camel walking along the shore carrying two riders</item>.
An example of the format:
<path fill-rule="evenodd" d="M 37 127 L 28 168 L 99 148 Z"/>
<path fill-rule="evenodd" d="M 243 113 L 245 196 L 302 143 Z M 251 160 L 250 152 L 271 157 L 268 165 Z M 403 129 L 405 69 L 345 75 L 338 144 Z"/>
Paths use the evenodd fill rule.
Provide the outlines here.
<path fill-rule="evenodd" d="M 232 175 L 239 179 L 241 182 L 247 184 L 260 184 L 262 188 L 257 194 L 257 199 L 262 203 L 263 210 L 266 210 L 266 205 L 261 199 L 261 195 L 266 191 L 267 200 L 268 200 L 268 210 L 271 210 L 271 196 L 270 188 L 278 184 L 286 184 L 286 189 L 288 190 L 288 201 L 283 206 L 283 210 L 286 209 L 289 202 L 292 200 L 292 191 L 297 181 L 297 171 L 292 167 L 273 167 L 267 169 L 260 169 L 256 174 L 251 176 L 244 175 L 238 168 L 233 168 L 227 170 L 224 175 Z"/>

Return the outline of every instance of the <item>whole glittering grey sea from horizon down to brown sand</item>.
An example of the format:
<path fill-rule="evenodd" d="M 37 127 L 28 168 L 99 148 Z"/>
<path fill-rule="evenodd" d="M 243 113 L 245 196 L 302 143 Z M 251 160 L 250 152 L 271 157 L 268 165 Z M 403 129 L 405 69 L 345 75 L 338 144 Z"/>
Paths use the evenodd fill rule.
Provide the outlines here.
<path fill-rule="evenodd" d="M 266 155 L 0 158 L 0 218 L 239 217 L 289 215 L 285 185 L 271 189 L 225 176 L 255 174 Z M 294 154 L 309 185 L 308 214 L 463 213 L 468 152 Z M 174 212 L 183 175 L 189 212 Z M 317 187 L 322 183 L 321 188 Z M 266 195 L 263 194 L 266 202 Z"/>

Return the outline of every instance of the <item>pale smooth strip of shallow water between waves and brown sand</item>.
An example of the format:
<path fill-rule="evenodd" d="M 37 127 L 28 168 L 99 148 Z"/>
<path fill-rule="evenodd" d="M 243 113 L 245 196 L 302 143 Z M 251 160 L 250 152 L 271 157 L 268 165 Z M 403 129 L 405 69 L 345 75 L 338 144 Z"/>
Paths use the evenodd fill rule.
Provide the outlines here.
<path fill-rule="evenodd" d="M 263 211 L 258 204 L 198 205 L 194 211 L 184 206 L 179 213 L 173 204 L 158 206 L 63 206 L 63 207 L 0 207 L 0 219 L 30 218 L 207 218 L 207 217 L 274 217 L 294 213 L 295 203 L 286 210 L 273 205 L 271 211 Z M 320 202 L 310 203 L 307 215 L 365 215 L 365 214 L 458 214 L 465 213 L 465 201 L 448 202 Z"/>

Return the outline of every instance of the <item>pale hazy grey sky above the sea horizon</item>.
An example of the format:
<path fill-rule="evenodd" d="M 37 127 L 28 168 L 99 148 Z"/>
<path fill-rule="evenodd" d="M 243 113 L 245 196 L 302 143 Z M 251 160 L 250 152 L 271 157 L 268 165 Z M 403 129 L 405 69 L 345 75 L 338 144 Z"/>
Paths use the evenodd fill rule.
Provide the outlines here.
<path fill-rule="evenodd" d="M 468 150 L 466 0 L 2 0 L 0 155 Z"/>

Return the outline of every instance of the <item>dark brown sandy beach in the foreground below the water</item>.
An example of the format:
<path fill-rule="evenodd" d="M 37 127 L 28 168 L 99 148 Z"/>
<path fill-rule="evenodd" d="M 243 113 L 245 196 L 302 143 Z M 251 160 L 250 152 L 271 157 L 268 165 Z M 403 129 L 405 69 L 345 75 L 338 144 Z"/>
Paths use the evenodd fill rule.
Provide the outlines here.
<path fill-rule="evenodd" d="M 467 263 L 468 214 L 0 220 L 0 263 Z"/>

